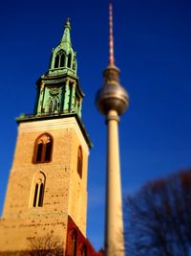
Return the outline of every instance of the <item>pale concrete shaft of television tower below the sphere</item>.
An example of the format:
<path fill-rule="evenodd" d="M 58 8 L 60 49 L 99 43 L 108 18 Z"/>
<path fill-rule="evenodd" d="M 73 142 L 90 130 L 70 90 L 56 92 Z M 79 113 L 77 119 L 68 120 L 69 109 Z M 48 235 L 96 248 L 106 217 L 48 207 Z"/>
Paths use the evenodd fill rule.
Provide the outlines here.
<path fill-rule="evenodd" d="M 110 110 L 106 117 L 107 137 L 107 191 L 105 216 L 106 256 L 124 255 L 123 221 L 118 149 L 118 115 Z"/>

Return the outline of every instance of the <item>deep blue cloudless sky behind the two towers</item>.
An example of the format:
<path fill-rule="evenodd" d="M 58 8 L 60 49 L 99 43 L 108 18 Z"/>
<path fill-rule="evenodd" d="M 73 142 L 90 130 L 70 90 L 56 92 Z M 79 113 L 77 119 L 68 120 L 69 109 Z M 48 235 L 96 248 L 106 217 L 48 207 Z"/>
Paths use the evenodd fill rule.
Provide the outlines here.
<path fill-rule="evenodd" d="M 121 117 L 123 196 L 191 166 L 191 2 L 114 0 L 115 57 L 130 107 Z M 0 210 L 16 139 L 14 118 L 32 113 L 35 81 L 72 20 L 89 160 L 88 237 L 103 245 L 106 127 L 95 107 L 108 62 L 108 1 L 3 1 L 0 9 Z"/>

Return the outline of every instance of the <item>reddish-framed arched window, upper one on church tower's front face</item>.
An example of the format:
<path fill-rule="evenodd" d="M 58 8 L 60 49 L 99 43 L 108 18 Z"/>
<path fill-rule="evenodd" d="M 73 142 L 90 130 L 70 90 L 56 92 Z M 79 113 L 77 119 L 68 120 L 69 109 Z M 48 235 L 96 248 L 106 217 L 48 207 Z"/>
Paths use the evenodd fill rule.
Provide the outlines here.
<path fill-rule="evenodd" d="M 40 135 L 34 145 L 33 163 L 48 163 L 52 160 L 53 138 L 50 134 Z"/>

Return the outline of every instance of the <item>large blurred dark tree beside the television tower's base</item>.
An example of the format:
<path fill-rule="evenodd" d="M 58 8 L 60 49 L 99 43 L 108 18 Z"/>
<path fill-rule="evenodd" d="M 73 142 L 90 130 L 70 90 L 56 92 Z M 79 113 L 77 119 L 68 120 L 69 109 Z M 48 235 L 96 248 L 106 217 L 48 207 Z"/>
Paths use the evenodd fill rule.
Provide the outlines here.
<path fill-rule="evenodd" d="M 191 255 L 191 170 L 150 182 L 126 199 L 127 255 Z"/>

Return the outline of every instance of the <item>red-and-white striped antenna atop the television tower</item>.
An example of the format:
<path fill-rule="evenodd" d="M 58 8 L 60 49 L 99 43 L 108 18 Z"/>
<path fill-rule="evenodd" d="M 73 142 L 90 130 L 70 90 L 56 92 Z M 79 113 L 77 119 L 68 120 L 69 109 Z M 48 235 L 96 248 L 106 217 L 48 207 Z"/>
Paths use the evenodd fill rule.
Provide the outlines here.
<path fill-rule="evenodd" d="M 109 3 L 109 65 L 115 65 L 114 59 L 114 37 L 113 37 L 113 4 Z"/>

